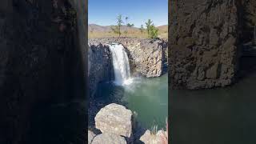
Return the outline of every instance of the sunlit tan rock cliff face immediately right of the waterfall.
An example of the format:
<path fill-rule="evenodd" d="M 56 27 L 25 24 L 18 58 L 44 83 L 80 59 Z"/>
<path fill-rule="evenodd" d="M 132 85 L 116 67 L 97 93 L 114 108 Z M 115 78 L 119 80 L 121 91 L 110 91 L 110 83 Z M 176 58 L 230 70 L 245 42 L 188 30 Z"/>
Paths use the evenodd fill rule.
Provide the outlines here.
<path fill-rule="evenodd" d="M 126 42 L 124 46 L 129 51 L 133 72 L 147 78 L 159 77 L 163 74 L 166 63 L 167 42 L 162 40 L 144 39 L 137 44 Z"/>

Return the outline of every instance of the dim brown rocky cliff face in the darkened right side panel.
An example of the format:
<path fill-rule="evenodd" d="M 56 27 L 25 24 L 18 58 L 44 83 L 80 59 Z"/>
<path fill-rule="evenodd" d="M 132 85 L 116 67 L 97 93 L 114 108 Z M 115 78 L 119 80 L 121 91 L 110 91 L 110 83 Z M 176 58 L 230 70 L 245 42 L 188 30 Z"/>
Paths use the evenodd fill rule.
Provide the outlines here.
<path fill-rule="evenodd" d="M 171 86 L 200 89 L 234 82 L 240 2 L 186 0 L 170 4 Z"/>

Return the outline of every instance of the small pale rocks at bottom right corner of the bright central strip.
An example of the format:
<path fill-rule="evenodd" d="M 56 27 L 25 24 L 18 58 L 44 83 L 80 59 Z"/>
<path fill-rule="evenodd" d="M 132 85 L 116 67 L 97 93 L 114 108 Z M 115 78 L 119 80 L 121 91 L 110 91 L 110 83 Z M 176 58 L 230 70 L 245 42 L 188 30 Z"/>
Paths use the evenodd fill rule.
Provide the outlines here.
<path fill-rule="evenodd" d="M 151 134 L 150 130 L 146 130 L 145 134 L 140 138 L 140 141 L 144 144 L 165 144 L 165 142 L 168 142 L 165 138 L 166 132 L 163 130 L 158 130 L 157 134 Z"/>

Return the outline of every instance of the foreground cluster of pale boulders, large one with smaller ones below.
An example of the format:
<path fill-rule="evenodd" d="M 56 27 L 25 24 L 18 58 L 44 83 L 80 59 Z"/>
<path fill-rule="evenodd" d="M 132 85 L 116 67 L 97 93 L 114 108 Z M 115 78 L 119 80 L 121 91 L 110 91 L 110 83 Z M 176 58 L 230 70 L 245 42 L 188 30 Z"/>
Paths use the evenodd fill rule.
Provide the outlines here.
<path fill-rule="evenodd" d="M 125 106 L 111 103 L 99 110 L 94 119 L 95 127 L 102 134 L 95 135 L 89 130 L 89 143 L 126 144 L 134 142 L 132 112 Z"/>

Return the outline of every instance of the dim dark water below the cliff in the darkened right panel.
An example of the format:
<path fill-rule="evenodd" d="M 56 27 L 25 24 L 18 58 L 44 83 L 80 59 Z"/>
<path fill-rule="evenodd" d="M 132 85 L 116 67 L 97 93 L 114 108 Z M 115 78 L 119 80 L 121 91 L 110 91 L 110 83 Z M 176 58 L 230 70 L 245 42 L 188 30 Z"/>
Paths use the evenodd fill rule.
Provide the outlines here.
<path fill-rule="evenodd" d="M 256 74 L 233 86 L 170 90 L 174 143 L 255 143 Z"/>

